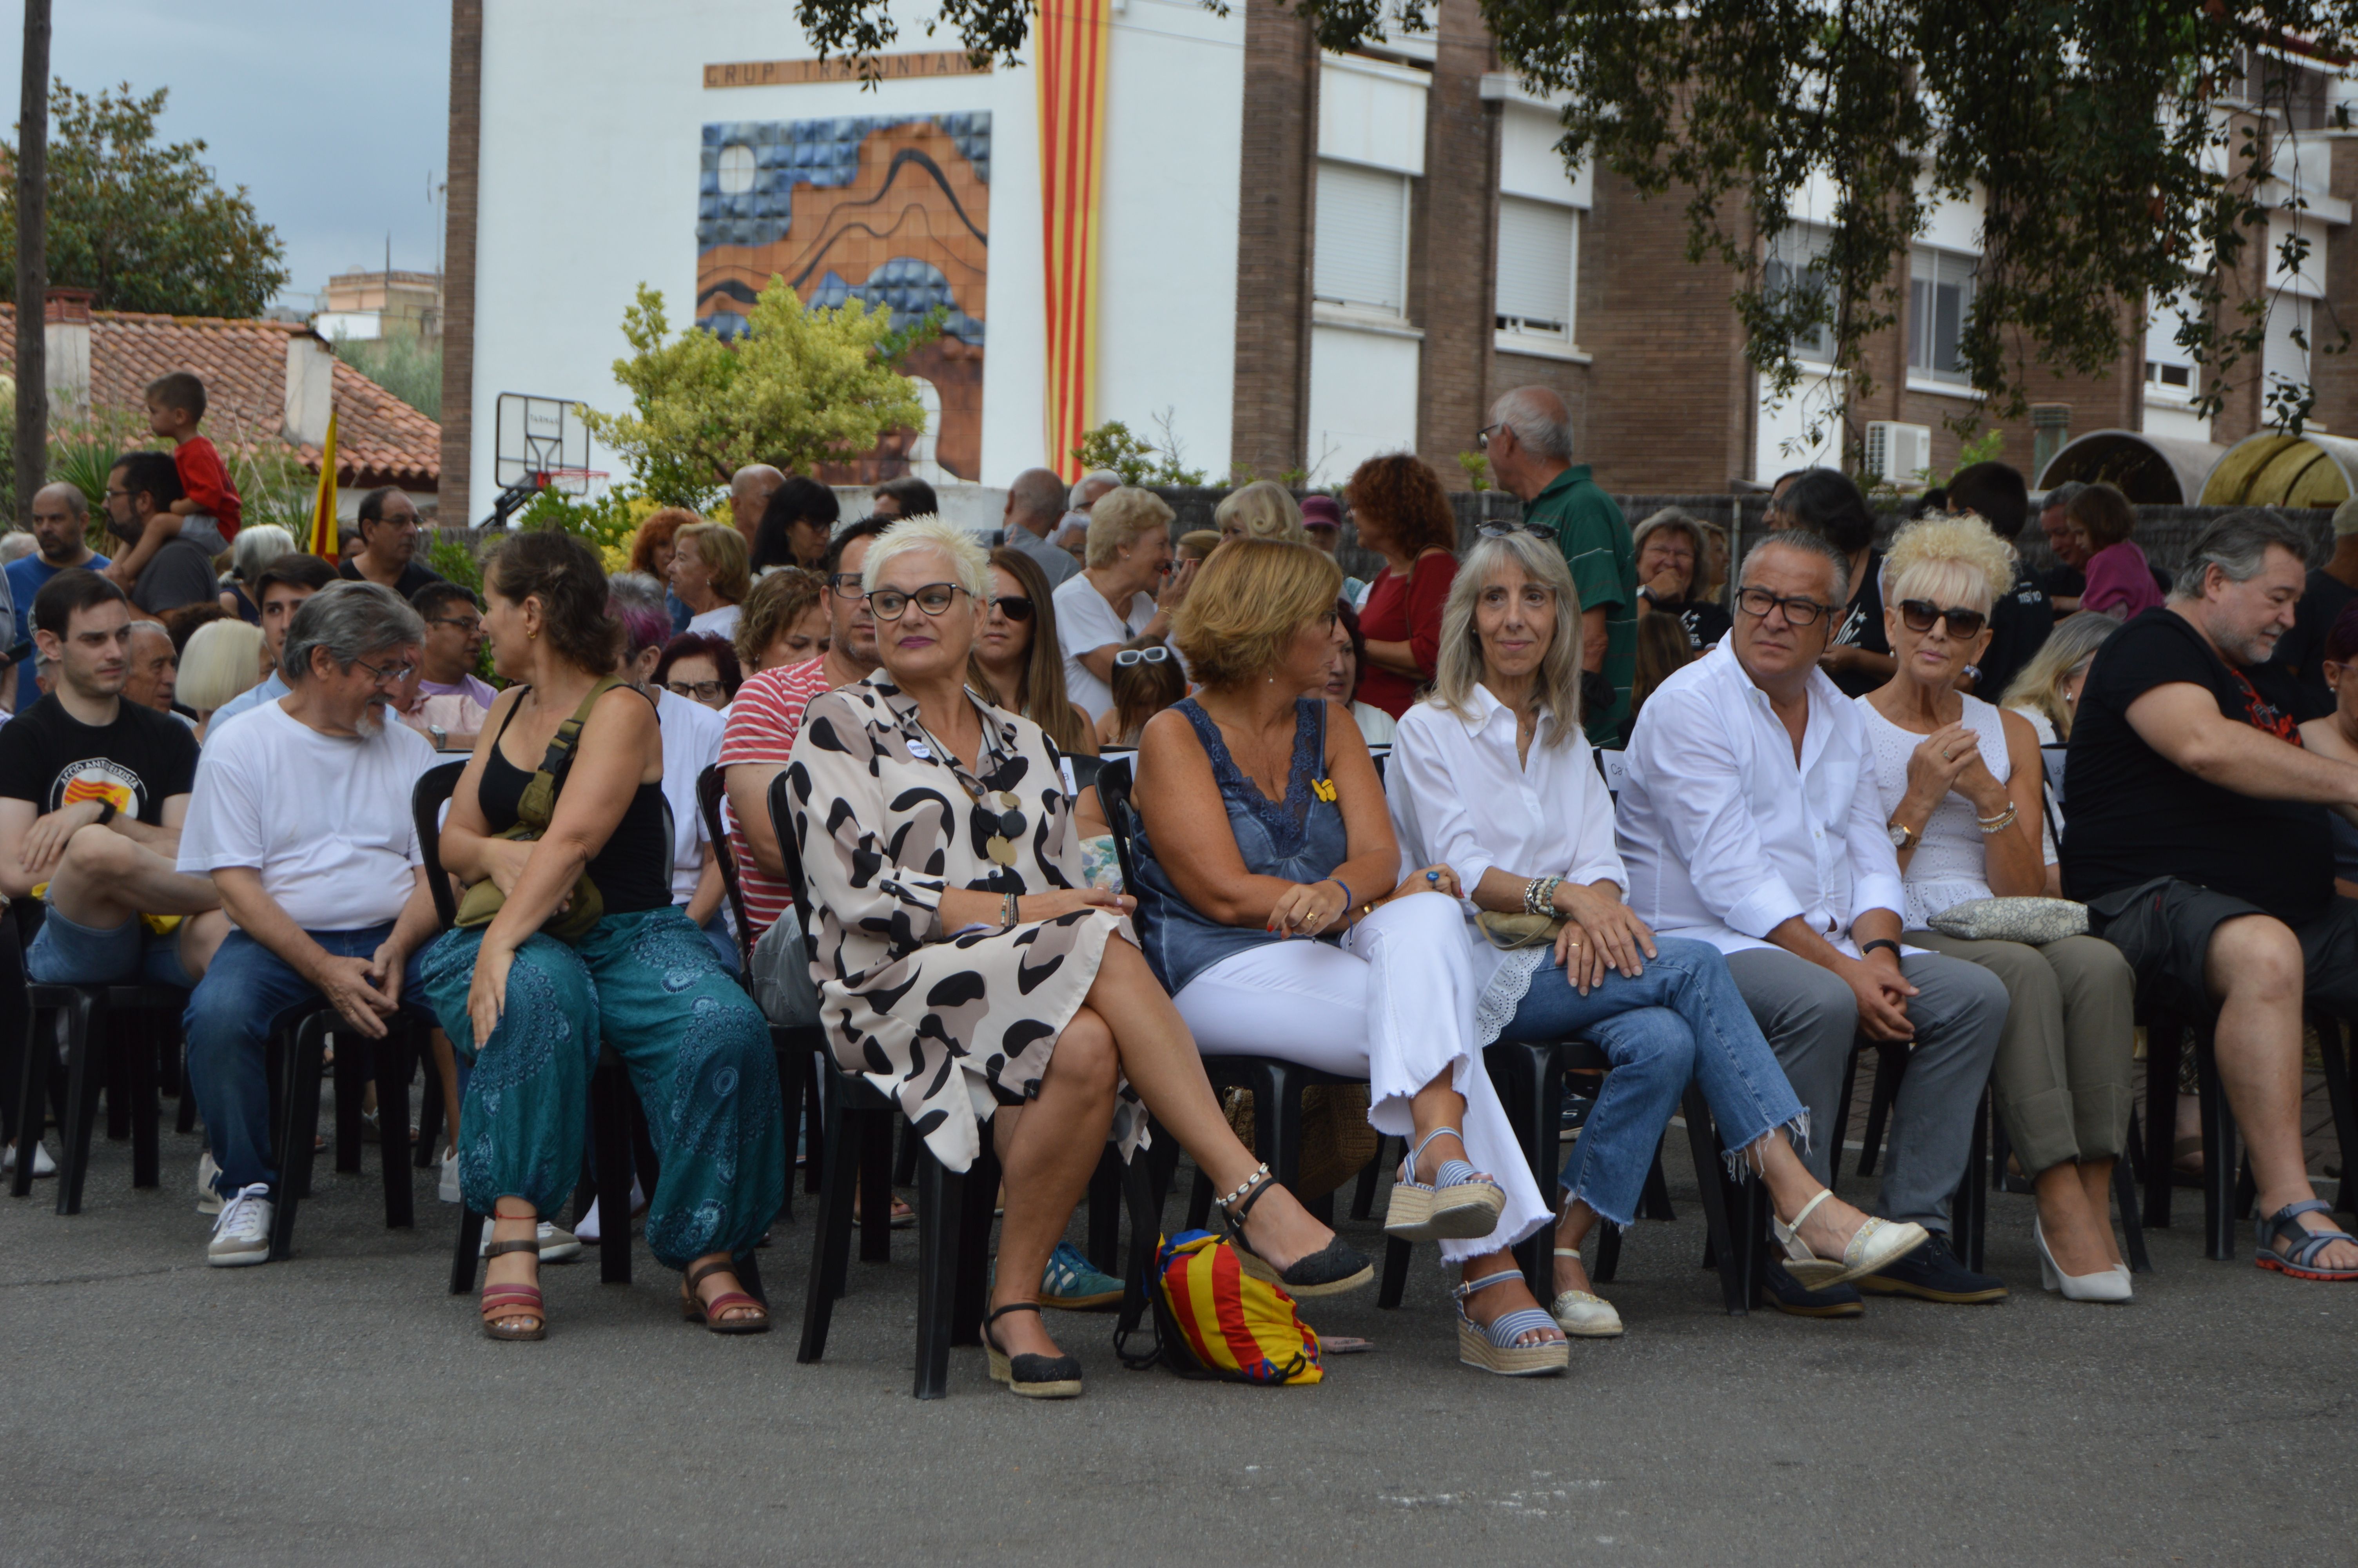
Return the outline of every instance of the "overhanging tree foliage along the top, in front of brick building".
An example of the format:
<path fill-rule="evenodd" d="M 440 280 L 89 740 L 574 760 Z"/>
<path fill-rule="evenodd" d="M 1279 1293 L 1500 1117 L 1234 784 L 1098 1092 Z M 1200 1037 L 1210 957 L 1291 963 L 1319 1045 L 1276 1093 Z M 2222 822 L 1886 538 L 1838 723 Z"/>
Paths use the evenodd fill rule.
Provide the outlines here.
<path fill-rule="evenodd" d="M 1226 14 L 1229 0 L 1203 0 Z M 1427 0 L 1280 0 L 1328 50 L 1429 31 Z M 1750 358 L 1778 394 L 1797 344 L 1827 330 L 1853 391 L 1868 337 L 1898 318 L 1908 245 L 1936 200 L 1981 198 L 1981 269 L 1959 358 L 1981 415 L 2026 406 L 2030 365 L 2110 370 L 2143 335 L 2148 297 L 2179 311 L 2202 368 L 2200 413 L 2257 377 L 2268 297 L 2242 290 L 2268 217 L 2306 205 L 2268 189 L 2299 123 L 2290 61 L 2351 59 L 2344 0 L 1478 0 L 1504 64 L 1563 94 L 1566 163 L 1594 160 L 1686 212 L 1691 262 L 1724 264 Z M 1014 61 L 1030 0 L 948 0 L 936 26 Z M 898 38 L 887 0 L 797 0 L 825 52 Z M 2330 66 L 2327 66 L 2330 68 Z M 2346 127 L 2346 113 L 2332 123 Z M 2318 139 L 2311 158 L 2323 160 Z M 2323 174 L 2323 167 L 2316 170 Z M 1771 266 L 1811 179 L 1832 186 L 1806 266 Z M 2323 182 L 2318 182 L 2323 184 Z M 2261 241 L 2264 243 L 2264 241 Z M 2318 276 L 2292 226 L 2278 250 Z M 2344 351 L 2349 332 L 2308 347 Z M 2238 365 L 2242 375 L 2238 377 Z M 2308 387 L 2271 382 L 2299 427 Z M 1856 436 L 1853 436 L 1856 441 Z"/>

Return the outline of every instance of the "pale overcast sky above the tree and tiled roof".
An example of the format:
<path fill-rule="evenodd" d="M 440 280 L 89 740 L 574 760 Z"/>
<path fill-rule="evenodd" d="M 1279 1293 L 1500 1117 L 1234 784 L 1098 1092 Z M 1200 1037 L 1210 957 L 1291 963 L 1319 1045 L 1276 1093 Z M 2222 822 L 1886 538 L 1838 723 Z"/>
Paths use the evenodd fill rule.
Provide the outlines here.
<path fill-rule="evenodd" d="M 97 94 L 170 87 L 158 134 L 205 141 L 285 241 L 283 299 L 330 271 L 432 269 L 450 106 L 450 0 L 52 0 L 50 75 Z M 0 35 L 5 123 L 24 80 L 21 9 Z M 9 130 L 9 141 L 14 141 Z M 436 198 L 439 200 L 439 198 Z"/>

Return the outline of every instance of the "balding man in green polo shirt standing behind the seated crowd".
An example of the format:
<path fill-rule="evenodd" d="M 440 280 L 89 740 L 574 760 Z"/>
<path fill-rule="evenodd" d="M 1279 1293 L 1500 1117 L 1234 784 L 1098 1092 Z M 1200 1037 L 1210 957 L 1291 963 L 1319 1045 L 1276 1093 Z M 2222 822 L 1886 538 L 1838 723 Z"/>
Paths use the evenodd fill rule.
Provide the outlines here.
<path fill-rule="evenodd" d="M 1587 705 L 1589 745 L 1618 747 L 1636 672 L 1636 552 L 1629 523 L 1589 465 L 1573 465 L 1573 415 L 1547 387 L 1516 387 L 1490 406 L 1481 448 L 1500 488 L 1523 498 L 1523 521 L 1554 531 L 1580 589 L 1580 667 L 1613 681 L 1613 703 Z"/>

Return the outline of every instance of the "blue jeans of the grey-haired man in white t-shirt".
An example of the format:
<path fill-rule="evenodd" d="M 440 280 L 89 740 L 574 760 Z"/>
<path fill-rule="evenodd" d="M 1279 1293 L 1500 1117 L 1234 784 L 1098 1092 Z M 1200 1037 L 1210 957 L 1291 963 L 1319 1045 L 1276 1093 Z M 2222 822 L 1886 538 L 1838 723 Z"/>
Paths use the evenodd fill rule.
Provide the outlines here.
<path fill-rule="evenodd" d="M 54 913 L 52 913 L 54 920 Z M 373 957 L 394 924 L 358 931 L 307 931 L 335 957 Z M 205 1141 L 222 1167 L 222 1195 L 245 1186 L 278 1186 L 271 1160 L 269 1028 L 288 1007 L 316 1002 L 318 990 L 245 931 L 231 931 L 212 969 L 189 995 L 182 1028 L 189 1035 L 189 1087 L 205 1118 Z M 417 1007 L 417 955 L 401 981 L 403 1007 Z M 347 1035 L 356 1030 L 342 1030 Z"/>

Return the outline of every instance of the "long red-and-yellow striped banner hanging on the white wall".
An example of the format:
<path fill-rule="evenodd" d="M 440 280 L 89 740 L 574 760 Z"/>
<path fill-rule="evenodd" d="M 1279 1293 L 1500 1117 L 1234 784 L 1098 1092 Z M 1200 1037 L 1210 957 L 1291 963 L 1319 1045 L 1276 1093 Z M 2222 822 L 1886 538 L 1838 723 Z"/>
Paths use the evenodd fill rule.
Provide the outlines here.
<path fill-rule="evenodd" d="M 1080 479 L 1073 448 L 1096 420 L 1096 184 L 1106 146 L 1108 0 L 1040 0 L 1040 210 L 1047 226 L 1047 450 Z"/>

